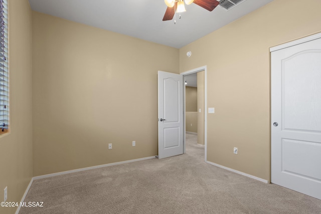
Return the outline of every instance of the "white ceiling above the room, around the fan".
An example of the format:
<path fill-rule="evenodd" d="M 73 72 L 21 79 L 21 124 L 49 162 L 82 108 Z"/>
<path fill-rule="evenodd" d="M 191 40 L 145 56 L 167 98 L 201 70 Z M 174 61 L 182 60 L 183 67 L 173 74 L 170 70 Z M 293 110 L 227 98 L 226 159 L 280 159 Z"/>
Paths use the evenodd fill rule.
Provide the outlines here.
<path fill-rule="evenodd" d="M 150 42 L 182 48 L 273 0 L 245 0 L 229 11 L 209 12 L 186 5 L 182 18 L 163 22 L 164 0 L 29 0 L 32 10 L 117 32 Z"/>

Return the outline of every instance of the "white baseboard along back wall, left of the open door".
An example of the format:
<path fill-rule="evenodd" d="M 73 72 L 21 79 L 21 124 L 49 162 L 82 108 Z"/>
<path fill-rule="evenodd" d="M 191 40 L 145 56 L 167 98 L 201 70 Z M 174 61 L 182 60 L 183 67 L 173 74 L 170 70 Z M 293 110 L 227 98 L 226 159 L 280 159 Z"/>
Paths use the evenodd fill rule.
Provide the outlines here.
<path fill-rule="evenodd" d="M 152 159 L 152 158 L 156 158 L 156 157 L 157 157 L 157 155 L 151 156 L 151 157 L 143 157 L 143 158 L 133 159 L 133 160 L 125 160 L 125 161 L 120 161 L 120 162 L 115 162 L 115 163 L 107 163 L 107 164 L 102 164 L 102 165 L 97 165 L 97 166 L 90 166 L 90 167 L 86 167 L 86 168 L 56 172 L 56 173 L 52 173 L 52 174 L 45 174 L 45 175 L 36 176 L 36 177 L 33 177 L 33 179 L 37 180 L 37 179 L 57 176 L 57 175 L 61 175 L 61 174 L 69 174 L 69 173 L 78 172 L 78 171 L 85 171 L 85 170 L 89 170 L 89 169 L 96 169 L 96 168 L 101 168 L 101 167 L 106 167 L 106 166 L 113 166 L 113 165 L 118 165 L 118 164 L 122 164 L 122 163 L 130 163 L 130 162 L 135 162 L 135 161 L 140 161 L 140 160 L 147 160 L 147 159 Z"/>

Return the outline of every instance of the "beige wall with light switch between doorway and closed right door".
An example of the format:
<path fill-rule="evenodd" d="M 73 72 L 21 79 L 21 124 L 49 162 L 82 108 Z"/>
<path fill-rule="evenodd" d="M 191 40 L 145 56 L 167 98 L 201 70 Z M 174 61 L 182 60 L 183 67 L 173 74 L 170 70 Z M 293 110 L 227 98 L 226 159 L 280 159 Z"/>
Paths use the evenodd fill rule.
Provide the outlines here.
<path fill-rule="evenodd" d="M 209 161 L 270 180 L 269 48 L 320 32 L 320 8 L 274 0 L 180 49 L 180 72 L 207 65 Z"/>

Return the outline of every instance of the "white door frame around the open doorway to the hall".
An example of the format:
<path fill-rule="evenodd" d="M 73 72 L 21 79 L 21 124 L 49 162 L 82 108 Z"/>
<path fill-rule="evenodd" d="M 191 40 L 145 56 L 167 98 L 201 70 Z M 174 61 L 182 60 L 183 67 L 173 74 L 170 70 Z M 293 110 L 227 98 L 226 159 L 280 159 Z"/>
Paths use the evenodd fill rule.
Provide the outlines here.
<path fill-rule="evenodd" d="M 195 68 L 186 72 L 181 73 L 184 76 L 187 76 L 189 74 L 197 73 L 204 71 L 204 144 L 205 144 L 205 162 L 207 161 L 207 66 L 202 66 L 199 68 Z M 183 142 L 183 153 L 186 153 L 186 106 L 185 106 L 185 87 L 183 90 L 184 96 L 183 96 L 183 104 L 184 104 L 184 110 L 183 110 L 183 118 L 184 118 L 184 142 Z"/>

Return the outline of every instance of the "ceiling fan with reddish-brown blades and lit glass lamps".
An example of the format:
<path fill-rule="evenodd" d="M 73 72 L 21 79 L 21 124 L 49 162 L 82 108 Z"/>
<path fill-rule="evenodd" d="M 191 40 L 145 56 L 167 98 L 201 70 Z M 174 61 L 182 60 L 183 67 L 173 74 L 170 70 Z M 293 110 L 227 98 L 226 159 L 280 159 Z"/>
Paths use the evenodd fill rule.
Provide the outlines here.
<path fill-rule="evenodd" d="M 186 5 L 194 3 L 208 11 L 213 11 L 216 8 L 216 6 L 220 4 L 216 0 L 165 0 L 167 10 L 165 12 L 163 21 L 172 20 L 175 15 L 175 11 L 177 13 L 185 12 L 186 10 L 184 2 Z"/>

